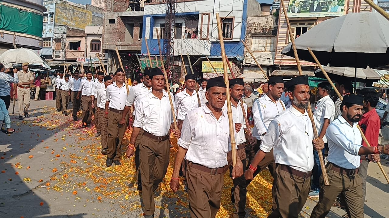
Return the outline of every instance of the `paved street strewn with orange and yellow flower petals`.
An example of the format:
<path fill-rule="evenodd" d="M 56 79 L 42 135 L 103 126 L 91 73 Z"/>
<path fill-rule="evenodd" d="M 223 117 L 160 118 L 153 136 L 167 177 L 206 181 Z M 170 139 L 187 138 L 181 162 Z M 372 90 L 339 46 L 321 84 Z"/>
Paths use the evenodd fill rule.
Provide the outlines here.
<path fill-rule="evenodd" d="M 141 197 L 134 185 L 133 158 L 123 159 L 121 166 L 105 167 L 95 129 L 82 129 L 81 121 L 74 122 L 72 116 L 55 112 L 53 100 L 32 100 L 30 116 L 24 121 L 17 119 L 17 111 L 16 107 L 15 114 L 11 114 L 16 133 L 0 135 L 2 217 L 142 217 Z M 130 130 L 126 137 L 130 137 Z M 189 217 L 187 194 L 182 187 L 177 193 L 168 187 L 176 143 L 172 139 L 175 148 L 171 149 L 166 180 L 156 191 L 156 217 Z M 385 162 L 382 165 L 388 172 Z M 271 211 L 271 184 L 270 174 L 263 172 L 248 187 L 247 217 L 266 217 Z M 229 203 L 231 186 L 226 174 L 223 207 L 217 217 L 228 217 L 233 211 Z M 367 190 L 365 217 L 388 217 L 389 186 L 374 163 L 369 166 Z M 308 199 L 301 217 L 309 217 L 317 200 Z M 333 208 L 328 217 L 338 218 L 344 213 Z"/>

